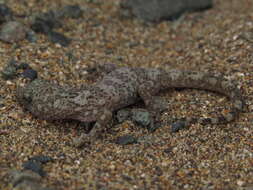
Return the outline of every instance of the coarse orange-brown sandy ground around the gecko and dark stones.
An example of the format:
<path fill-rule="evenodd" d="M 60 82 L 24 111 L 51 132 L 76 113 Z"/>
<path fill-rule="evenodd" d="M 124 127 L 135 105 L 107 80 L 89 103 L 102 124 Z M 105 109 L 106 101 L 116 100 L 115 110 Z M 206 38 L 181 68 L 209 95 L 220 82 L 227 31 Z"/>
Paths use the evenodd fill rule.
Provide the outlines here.
<path fill-rule="evenodd" d="M 29 63 L 39 76 L 80 85 L 87 64 L 112 62 L 216 71 L 234 79 L 246 108 L 226 125 L 193 125 L 170 133 L 165 125 L 150 133 L 125 122 L 81 149 L 73 138 L 84 130 L 73 122 L 34 118 L 15 99 L 19 79 L 0 79 L 0 189 L 10 190 L 11 169 L 34 155 L 47 155 L 42 183 L 55 189 L 253 189 L 253 1 L 216 0 L 213 9 L 185 14 L 176 22 L 143 24 L 120 16 L 118 0 L 10 0 L 14 12 L 29 14 L 78 3 L 82 18 L 65 19 L 58 32 L 74 39 L 69 47 L 38 35 L 37 43 L 0 42 L 0 69 L 11 58 Z M 165 120 L 222 111 L 229 101 L 214 93 L 171 90 Z M 124 134 L 142 138 L 115 144 Z"/>

